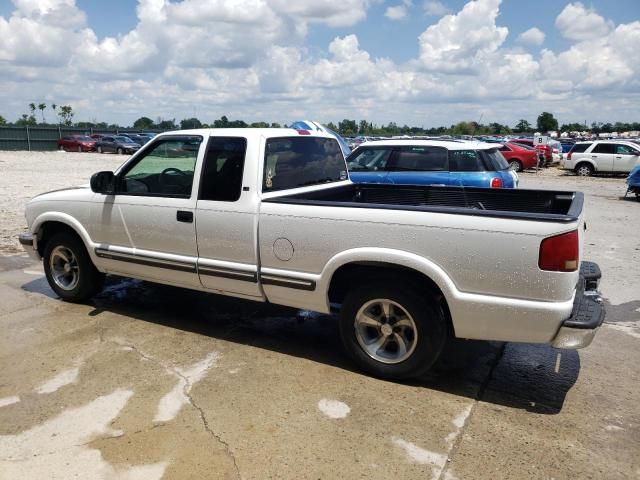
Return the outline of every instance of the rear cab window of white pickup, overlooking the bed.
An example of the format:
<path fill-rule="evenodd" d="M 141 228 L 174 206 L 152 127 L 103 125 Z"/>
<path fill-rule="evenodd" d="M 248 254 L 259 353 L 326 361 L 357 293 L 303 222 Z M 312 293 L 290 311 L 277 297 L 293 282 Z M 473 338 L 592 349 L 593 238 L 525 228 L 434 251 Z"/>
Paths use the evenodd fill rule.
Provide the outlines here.
<path fill-rule="evenodd" d="M 334 138 L 299 136 L 267 140 L 263 192 L 346 179 L 344 157 Z"/>

